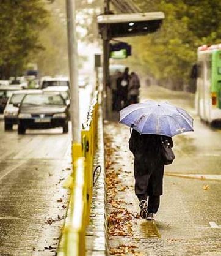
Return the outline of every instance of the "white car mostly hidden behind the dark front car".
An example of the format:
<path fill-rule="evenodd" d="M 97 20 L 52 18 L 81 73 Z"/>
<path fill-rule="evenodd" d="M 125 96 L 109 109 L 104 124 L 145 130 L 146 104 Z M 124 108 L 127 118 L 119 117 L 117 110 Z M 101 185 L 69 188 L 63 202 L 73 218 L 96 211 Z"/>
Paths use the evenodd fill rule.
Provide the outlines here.
<path fill-rule="evenodd" d="M 13 124 L 18 124 L 18 110 L 21 101 L 26 94 L 40 93 L 40 90 L 19 90 L 13 91 L 4 109 L 5 130 L 12 130 Z"/>

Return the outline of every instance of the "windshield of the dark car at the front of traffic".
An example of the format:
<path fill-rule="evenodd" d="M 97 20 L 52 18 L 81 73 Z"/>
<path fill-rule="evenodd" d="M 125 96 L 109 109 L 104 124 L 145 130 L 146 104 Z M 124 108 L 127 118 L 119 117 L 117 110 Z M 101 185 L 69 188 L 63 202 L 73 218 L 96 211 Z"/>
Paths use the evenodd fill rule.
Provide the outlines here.
<path fill-rule="evenodd" d="M 60 94 L 27 94 L 23 105 L 65 105 Z"/>

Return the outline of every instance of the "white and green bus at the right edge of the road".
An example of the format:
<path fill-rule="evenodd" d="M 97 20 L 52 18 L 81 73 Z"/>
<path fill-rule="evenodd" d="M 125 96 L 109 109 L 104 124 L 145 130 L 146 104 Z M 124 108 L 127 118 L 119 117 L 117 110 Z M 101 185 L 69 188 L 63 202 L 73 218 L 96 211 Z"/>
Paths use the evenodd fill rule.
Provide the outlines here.
<path fill-rule="evenodd" d="M 221 121 L 221 44 L 198 48 L 195 108 L 203 121 Z"/>

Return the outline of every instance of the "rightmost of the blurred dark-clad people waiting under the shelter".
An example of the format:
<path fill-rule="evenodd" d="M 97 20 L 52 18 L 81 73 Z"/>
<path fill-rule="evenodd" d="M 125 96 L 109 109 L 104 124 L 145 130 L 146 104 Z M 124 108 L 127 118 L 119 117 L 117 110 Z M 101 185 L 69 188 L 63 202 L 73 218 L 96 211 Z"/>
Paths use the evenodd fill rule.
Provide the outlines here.
<path fill-rule="evenodd" d="M 140 88 L 140 79 L 135 72 L 131 72 L 131 78 L 128 86 L 128 102 L 129 104 L 138 103 Z"/>

